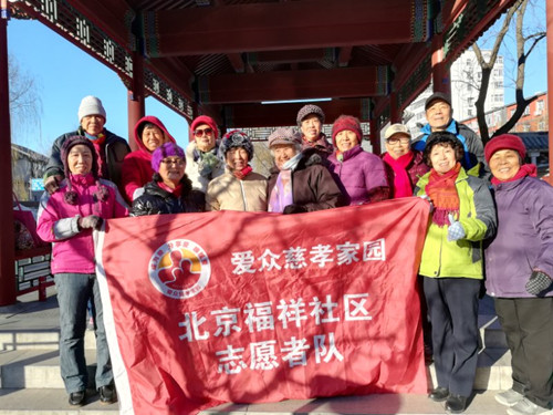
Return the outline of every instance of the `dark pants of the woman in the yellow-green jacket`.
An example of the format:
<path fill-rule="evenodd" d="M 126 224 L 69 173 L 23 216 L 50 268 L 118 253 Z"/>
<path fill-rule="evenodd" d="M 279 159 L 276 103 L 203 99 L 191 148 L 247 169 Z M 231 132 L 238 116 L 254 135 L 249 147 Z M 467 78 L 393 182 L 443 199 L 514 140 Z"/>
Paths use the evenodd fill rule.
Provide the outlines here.
<path fill-rule="evenodd" d="M 438 386 L 470 396 L 478 361 L 480 280 L 425 278 Z"/>

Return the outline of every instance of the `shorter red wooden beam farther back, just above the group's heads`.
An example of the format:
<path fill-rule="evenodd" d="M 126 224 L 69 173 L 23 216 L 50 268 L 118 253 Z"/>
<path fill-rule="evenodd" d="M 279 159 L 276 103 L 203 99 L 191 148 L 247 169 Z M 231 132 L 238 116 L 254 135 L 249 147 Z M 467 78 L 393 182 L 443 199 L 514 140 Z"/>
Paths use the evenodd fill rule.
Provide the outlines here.
<path fill-rule="evenodd" d="M 282 71 L 198 79 L 202 103 L 248 103 L 386 95 L 387 66 Z"/>

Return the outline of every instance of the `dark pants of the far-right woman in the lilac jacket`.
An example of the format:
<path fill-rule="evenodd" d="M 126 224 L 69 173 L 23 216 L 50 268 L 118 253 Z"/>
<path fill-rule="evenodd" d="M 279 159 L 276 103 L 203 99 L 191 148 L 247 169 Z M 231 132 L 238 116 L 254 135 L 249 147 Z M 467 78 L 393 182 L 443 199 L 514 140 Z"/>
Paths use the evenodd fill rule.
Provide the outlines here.
<path fill-rule="evenodd" d="M 534 404 L 553 401 L 553 298 L 495 299 L 511 350 L 513 390 Z"/>

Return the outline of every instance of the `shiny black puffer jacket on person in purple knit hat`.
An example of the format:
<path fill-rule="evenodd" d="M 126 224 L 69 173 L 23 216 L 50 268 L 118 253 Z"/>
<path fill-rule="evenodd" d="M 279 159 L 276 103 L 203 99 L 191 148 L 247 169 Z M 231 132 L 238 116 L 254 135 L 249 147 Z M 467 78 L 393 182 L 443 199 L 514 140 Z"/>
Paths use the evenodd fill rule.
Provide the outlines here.
<path fill-rule="evenodd" d="M 182 180 L 180 198 L 159 187 L 157 181 L 144 186 L 144 194 L 133 201 L 131 216 L 191 214 L 205 211 L 206 198 L 199 190 L 192 190 L 188 178 Z"/>

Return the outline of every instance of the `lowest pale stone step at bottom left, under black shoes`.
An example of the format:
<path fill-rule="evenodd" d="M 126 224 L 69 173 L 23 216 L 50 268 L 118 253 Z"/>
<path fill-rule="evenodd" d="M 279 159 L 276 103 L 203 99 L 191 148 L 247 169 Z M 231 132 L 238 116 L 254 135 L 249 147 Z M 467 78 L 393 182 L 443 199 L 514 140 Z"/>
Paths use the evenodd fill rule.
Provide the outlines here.
<path fill-rule="evenodd" d="M 116 415 L 117 403 L 104 405 L 93 392 L 86 397 L 86 405 L 73 407 L 67 394 L 58 388 L 4 388 L 0 390 L 0 415 Z"/>

